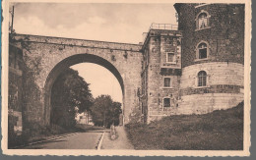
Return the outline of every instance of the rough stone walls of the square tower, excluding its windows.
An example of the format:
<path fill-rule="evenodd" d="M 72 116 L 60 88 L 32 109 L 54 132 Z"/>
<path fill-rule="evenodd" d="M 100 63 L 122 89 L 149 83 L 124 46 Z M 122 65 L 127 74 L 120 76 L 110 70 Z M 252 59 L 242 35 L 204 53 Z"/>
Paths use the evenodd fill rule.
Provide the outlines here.
<path fill-rule="evenodd" d="M 148 41 L 145 43 L 149 48 L 147 98 L 147 122 L 155 120 L 162 115 L 170 115 L 172 107 L 177 105 L 180 69 L 181 69 L 181 31 L 175 30 L 150 30 Z M 167 53 L 174 53 L 175 61 L 166 61 Z M 170 78 L 170 87 L 164 87 L 164 78 Z M 163 107 L 163 98 L 171 99 L 171 107 Z"/>

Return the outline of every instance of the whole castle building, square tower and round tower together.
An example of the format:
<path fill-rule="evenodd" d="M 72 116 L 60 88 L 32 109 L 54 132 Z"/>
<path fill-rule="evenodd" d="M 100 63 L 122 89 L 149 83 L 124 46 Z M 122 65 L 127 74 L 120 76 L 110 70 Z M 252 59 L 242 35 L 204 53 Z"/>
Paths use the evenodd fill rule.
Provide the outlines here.
<path fill-rule="evenodd" d="M 144 122 L 205 114 L 243 100 L 244 5 L 176 3 L 178 27 L 156 25 L 143 44 Z"/>

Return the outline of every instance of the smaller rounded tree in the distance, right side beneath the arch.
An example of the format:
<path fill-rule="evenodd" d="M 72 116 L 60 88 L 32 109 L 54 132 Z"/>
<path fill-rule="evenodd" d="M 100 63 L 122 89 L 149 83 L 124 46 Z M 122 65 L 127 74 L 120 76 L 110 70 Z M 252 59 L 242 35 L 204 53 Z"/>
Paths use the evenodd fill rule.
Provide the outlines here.
<path fill-rule="evenodd" d="M 113 102 L 109 95 L 96 97 L 92 107 L 93 122 L 96 126 L 109 128 L 111 124 L 119 125 L 120 113 L 122 113 L 121 103 Z"/>

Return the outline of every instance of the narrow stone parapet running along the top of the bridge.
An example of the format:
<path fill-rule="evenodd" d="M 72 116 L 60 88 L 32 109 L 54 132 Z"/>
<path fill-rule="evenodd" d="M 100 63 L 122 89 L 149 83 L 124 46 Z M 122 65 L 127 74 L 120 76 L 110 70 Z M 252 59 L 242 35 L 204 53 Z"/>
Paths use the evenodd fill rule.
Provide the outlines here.
<path fill-rule="evenodd" d="M 41 35 L 31 35 L 31 34 L 15 34 L 13 37 L 14 37 L 14 40 L 16 40 L 16 41 L 28 41 L 28 42 L 48 43 L 48 44 L 57 44 L 57 45 L 80 46 L 80 47 L 88 47 L 88 48 L 125 50 L 125 51 L 133 51 L 133 52 L 140 52 L 142 49 L 142 45 L 129 44 L 129 43 L 96 41 L 96 40 L 86 40 L 86 39 L 73 39 L 73 38 L 41 36 Z"/>

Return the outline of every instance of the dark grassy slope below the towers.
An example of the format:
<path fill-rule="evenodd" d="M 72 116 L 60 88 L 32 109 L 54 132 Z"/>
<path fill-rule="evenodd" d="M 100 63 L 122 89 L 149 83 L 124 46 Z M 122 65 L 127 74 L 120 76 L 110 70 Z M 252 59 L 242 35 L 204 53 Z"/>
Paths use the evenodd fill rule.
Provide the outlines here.
<path fill-rule="evenodd" d="M 126 125 L 135 149 L 242 150 L 243 102 L 204 115 L 165 117 L 149 125 Z"/>

